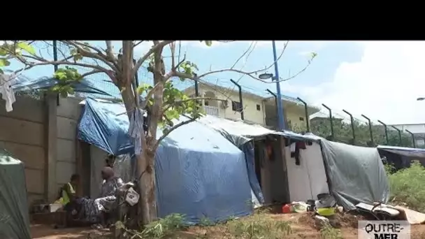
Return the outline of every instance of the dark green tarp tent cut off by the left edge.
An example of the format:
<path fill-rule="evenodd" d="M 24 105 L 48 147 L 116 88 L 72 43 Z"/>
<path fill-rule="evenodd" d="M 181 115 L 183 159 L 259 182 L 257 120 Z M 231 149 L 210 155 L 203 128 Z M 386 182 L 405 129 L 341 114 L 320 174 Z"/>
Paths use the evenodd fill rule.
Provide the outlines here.
<path fill-rule="evenodd" d="M 24 164 L 3 149 L 0 149 L 0 238 L 31 238 Z"/>

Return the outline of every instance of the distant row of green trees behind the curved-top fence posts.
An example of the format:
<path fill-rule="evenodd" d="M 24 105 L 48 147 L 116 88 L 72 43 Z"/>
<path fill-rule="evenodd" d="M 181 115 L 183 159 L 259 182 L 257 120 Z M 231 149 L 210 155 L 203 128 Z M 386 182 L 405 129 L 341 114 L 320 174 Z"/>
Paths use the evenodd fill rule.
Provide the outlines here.
<path fill-rule="evenodd" d="M 305 126 L 296 125 L 293 127 L 294 131 L 305 131 Z M 321 118 L 310 120 L 310 131 L 317 136 L 331 139 L 331 121 L 329 118 Z M 368 124 L 354 121 L 354 133 L 356 136 L 355 145 L 371 146 L 370 131 Z M 412 147 L 412 137 L 408 133 L 401 133 L 401 144 L 398 138 L 398 132 L 388 129 L 388 144 L 385 137 L 384 126 L 372 124 L 373 143 L 375 145 L 392 145 L 402 147 Z M 352 126 L 341 119 L 333 118 L 333 134 L 334 138 L 331 140 L 353 144 L 352 142 Z"/>

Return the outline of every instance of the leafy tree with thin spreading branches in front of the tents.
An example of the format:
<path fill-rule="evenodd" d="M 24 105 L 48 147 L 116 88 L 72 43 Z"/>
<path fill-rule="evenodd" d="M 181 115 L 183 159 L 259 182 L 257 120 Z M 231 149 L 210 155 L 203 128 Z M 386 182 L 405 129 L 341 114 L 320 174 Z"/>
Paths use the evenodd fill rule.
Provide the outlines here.
<path fill-rule="evenodd" d="M 138 136 L 134 138 L 134 140 L 140 140 L 135 141 L 135 143 L 141 143 L 142 148 L 141 152 L 136 152 L 136 157 L 138 174 L 141 175 L 141 203 L 139 204 L 142 209 L 143 224 L 147 224 L 157 217 L 157 202 L 154 196 L 154 155 L 157 147 L 169 133 L 179 126 L 193 122 L 196 118 L 201 117 L 202 113 L 198 103 L 201 98 L 190 99 L 178 89 L 175 89 L 171 79 L 180 78 L 182 81 L 186 79 L 201 80 L 212 73 L 230 71 L 250 76 L 250 78 L 265 83 L 271 83 L 257 78 L 256 75 L 259 72 L 267 71 L 273 64 L 258 71 L 242 71 L 234 68 L 242 57 L 239 57 L 231 68 L 199 74 L 196 64 L 188 61 L 186 56 L 178 60 L 180 59 L 179 55 L 179 58 L 176 59 L 177 41 L 152 41 L 152 47 L 137 61 L 134 59 L 134 49 L 142 41 L 122 41 L 122 48 L 119 52 L 115 51 L 111 41 L 105 41 L 103 48 L 82 41 L 57 42 L 65 45 L 71 52 L 70 55 L 64 56 L 62 60 L 46 59 L 38 55 L 33 47 L 34 41 L 3 43 L 3 45 L 0 45 L 0 73 L 3 73 L 1 67 L 9 66 L 12 59 L 21 62 L 27 69 L 43 65 L 64 66 L 64 68 L 59 68 L 54 74 L 59 83 L 49 89 L 50 92 L 57 92 L 62 96 L 74 93 L 72 87 L 74 82 L 78 82 L 82 78 L 95 73 L 106 73 L 110 80 L 120 89 L 122 101 L 130 121 L 132 117 L 141 115 L 138 114 L 141 113 L 141 110 L 147 111 L 147 131 L 141 129 L 141 131 L 137 132 L 140 138 Z M 201 42 L 208 46 L 212 44 L 212 41 Z M 168 68 L 166 68 L 163 58 L 164 48 L 166 47 L 169 47 L 171 52 L 171 66 Z M 282 57 L 286 48 L 287 43 L 284 45 L 280 57 Z M 280 81 L 289 80 L 305 71 L 315 56 L 313 53 L 311 59 L 308 60 L 308 64 L 300 72 L 287 79 L 280 79 Z M 83 58 L 94 59 L 97 63 L 100 62 L 104 66 L 83 63 L 81 61 Z M 145 62 L 148 63 L 147 71 L 153 75 L 153 85 L 143 84 L 135 87 L 136 73 Z M 82 66 L 90 70 L 81 73 L 75 68 L 76 66 Z M 19 71 L 20 69 L 15 72 Z M 140 99 L 140 96 L 142 96 L 142 99 Z M 180 115 L 187 115 L 189 119 L 176 123 L 176 119 L 180 119 Z M 163 135 L 159 138 L 157 137 L 158 127 L 163 129 Z"/>

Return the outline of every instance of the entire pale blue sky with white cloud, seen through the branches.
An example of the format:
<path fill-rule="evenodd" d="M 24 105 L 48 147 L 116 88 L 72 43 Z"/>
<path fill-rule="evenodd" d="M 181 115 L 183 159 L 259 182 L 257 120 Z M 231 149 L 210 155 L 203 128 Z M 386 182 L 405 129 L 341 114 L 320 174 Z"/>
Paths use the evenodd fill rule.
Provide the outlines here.
<path fill-rule="evenodd" d="M 100 42 L 96 44 L 102 45 Z M 115 48 L 119 48 L 115 43 Z M 135 50 L 139 57 L 150 48 L 142 43 Z M 277 41 L 280 55 L 284 41 Z M 208 47 L 199 41 L 182 41 L 181 55 L 198 65 L 199 73 L 230 68 L 250 48 L 250 53 L 238 61 L 235 68 L 254 71 L 273 63 L 271 41 L 212 42 Z M 46 49 L 41 49 L 41 52 Z M 282 94 L 300 97 L 310 105 L 321 107 L 322 103 L 337 115 L 347 117 L 341 110 L 352 113 L 356 119 L 364 114 L 373 122 L 380 119 L 387 124 L 425 123 L 425 42 L 422 41 L 289 41 L 284 55 L 278 61 L 280 78 L 298 73 L 308 64 L 310 52 L 317 57 L 296 78 L 280 82 Z M 422 54 L 424 53 L 424 55 Z M 164 57 L 170 55 L 168 48 Z M 10 67 L 17 68 L 17 64 Z M 29 77 L 51 75 L 52 66 L 27 71 Z M 268 73 L 275 73 L 271 67 Z M 241 78 L 242 76 L 242 78 Z M 142 74 L 141 80 L 149 80 Z M 233 88 L 230 79 L 238 80 L 247 92 L 270 96 L 266 89 L 276 92 L 275 83 L 264 83 L 247 75 L 223 72 L 206 78 L 224 87 Z M 175 82 L 180 89 L 192 82 Z M 324 114 L 326 110 L 323 110 Z"/>

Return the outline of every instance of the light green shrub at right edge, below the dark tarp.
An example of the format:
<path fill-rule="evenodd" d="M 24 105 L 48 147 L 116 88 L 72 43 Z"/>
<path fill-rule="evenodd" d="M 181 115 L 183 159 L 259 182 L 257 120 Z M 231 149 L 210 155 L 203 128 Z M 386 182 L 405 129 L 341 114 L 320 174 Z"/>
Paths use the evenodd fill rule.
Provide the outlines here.
<path fill-rule="evenodd" d="M 410 168 L 392 172 L 386 167 L 391 189 L 390 201 L 405 203 L 408 208 L 425 212 L 425 168 L 414 161 Z"/>

